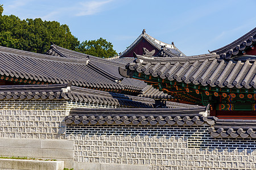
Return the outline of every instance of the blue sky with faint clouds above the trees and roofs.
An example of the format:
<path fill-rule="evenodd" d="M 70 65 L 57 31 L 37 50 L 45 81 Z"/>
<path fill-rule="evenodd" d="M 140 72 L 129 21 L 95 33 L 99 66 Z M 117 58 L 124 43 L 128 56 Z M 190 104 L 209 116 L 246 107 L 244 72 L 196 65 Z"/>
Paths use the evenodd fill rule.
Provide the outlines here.
<path fill-rule="evenodd" d="M 80 41 L 103 37 L 119 53 L 142 32 L 174 44 L 187 56 L 208 53 L 256 26 L 254 0 L 0 0 L 3 15 L 69 25 Z"/>

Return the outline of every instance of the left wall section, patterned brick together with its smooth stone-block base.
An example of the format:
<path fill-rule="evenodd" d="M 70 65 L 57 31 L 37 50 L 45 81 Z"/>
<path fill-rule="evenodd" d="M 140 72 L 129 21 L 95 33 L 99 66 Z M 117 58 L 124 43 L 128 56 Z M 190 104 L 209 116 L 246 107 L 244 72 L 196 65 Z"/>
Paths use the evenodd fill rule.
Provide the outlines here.
<path fill-rule="evenodd" d="M 74 142 L 66 140 L 64 117 L 77 107 L 112 106 L 64 100 L 0 101 L 0 156 L 59 158 L 72 168 Z"/>

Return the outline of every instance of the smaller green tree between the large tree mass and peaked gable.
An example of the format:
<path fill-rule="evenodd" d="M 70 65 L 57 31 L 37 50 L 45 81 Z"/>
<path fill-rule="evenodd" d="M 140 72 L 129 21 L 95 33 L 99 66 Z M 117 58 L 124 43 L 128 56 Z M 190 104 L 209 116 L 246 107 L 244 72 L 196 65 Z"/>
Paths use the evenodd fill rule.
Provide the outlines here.
<path fill-rule="evenodd" d="M 113 49 L 112 43 L 102 38 L 98 40 L 83 41 L 76 48 L 76 51 L 102 58 L 114 57 L 117 54 Z"/>

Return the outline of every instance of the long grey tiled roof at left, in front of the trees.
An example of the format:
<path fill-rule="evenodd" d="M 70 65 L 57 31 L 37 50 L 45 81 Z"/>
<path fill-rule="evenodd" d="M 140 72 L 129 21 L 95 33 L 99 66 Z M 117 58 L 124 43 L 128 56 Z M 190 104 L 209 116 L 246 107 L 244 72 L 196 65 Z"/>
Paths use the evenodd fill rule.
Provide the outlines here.
<path fill-rule="evenodd" d="M 58 49 L 61 57 L 0 46 L 1 79 L 31 84 L 72 81 L 73 86 L 137 94 L 147 86 L 140 80 L 121 79 L 117 70 L 124 63 Z"/>

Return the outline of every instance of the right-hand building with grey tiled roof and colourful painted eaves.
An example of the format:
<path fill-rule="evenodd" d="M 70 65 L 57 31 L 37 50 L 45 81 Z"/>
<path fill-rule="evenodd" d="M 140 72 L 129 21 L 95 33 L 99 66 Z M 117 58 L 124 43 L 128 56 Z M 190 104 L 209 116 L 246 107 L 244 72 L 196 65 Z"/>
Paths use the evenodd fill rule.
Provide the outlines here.
<path fill-rule="evenodd" d="M 256 29 L 220 49 L 199 56 L 136 54 L 119 71 L 173 96 L 179 103 L 208 105 L 219 118 L 256 118 Z M 163 56 L 164 55 L 164 56 Z"/>

